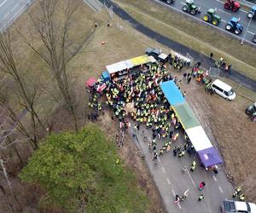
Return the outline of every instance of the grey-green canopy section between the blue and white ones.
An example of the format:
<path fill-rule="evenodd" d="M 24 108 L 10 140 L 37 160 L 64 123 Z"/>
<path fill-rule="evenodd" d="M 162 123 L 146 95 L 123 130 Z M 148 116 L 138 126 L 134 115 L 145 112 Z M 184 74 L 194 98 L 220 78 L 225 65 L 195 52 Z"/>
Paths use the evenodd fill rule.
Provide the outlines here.
<path fill-rule="evenodd" d="M 177 118 L 183 125 L 184 130 L 188 130 L 195 126 L 200 126 L 198 119 L 195 117 L 194 112 L 191 110 L 187 102 L 184 102 L 183 104 L 174 105 L 172 106 L 172 108 L 176 113 Z"/>

